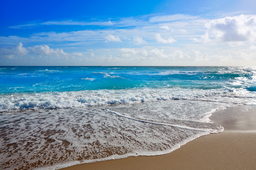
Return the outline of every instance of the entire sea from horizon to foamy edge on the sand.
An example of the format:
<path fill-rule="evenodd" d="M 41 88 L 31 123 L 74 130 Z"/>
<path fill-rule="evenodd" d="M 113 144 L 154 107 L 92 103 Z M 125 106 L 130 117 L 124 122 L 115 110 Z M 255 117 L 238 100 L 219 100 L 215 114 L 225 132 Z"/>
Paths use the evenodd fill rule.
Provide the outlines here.
<path fill-rule="evenodd" d="M 256 67 L 0 66 L 0 165 L 169 153 L 238 105 L 256 105 Z"/>

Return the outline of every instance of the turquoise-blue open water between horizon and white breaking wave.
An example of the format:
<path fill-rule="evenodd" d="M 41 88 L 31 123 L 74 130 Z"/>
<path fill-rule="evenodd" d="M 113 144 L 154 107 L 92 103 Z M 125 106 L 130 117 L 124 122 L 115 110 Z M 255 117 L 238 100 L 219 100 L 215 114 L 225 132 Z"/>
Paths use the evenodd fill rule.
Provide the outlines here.
<path fill-rule="evenodd" d="M 0 67 L 0 92 L 170 87 L 255 91 L 255 70 L 255 67 Z M 241 83 L 235 84 L 237 81 Z"/>

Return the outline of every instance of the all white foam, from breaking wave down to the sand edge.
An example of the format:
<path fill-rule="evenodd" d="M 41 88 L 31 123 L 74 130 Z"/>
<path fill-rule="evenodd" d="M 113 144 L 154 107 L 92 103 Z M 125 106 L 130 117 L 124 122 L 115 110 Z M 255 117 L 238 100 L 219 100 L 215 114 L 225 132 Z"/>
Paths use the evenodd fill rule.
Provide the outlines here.
<path fill-rule="evenodd" d="M 223 131 L 209 116 L 256 104 L 244 92 L 165 88 L 2 95 L 0 108 L 7 113 L 0 114 L 1 166 L 58 169 L 169 153 L 196 137 Z M 8 112 L 20 109 L 38 110 Z"/>

